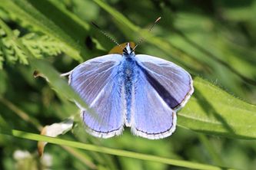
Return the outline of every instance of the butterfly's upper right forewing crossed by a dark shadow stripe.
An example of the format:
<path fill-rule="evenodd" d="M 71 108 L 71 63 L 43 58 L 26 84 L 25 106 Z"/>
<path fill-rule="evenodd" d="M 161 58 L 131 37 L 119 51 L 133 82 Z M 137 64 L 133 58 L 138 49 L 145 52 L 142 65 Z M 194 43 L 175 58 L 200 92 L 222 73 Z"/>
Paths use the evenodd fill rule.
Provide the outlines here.
<path fill-rule="evenodd" d="M 172 110 L 179 110 L 194 92 L 193 80 L 186 70 L 168 60 L 139 54 L 138 66 L 165 103 Z"/>

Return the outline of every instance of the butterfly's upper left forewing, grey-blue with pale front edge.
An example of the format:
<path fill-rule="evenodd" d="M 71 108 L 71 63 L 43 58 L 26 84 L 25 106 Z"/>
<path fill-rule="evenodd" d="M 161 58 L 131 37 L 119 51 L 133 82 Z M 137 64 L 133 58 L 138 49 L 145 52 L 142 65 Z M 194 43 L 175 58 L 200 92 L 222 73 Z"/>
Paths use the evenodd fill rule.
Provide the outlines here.
<path fill-rule="evenodd" d="M 106 83 L 117 74 L 114 70 L 121 58 L 119 54 L 109 54 L 87 60 L 71 71 L 69 84 L 86 103 L 91 104 Z"/>

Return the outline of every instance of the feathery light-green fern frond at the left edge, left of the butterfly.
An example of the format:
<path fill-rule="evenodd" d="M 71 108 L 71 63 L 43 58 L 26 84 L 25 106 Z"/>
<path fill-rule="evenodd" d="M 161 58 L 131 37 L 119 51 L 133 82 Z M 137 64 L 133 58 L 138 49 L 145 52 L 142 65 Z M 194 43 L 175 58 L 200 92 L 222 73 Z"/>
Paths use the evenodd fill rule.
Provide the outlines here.
<path fill-rule="evenodd" d="M 51 38 L 44 34 L 28 33 L 22 37 L 19 36 L 19 31 L 13 31 L 15 38 L 22 41 L 22 44 L 28 48 L 34 57 L 42 58 L 48 56 L 57 56 L 65 49 L 64 45 L 60 41 L 56 41 L 55 38 Z M 0 69 L 2 69 L 3 62 L 6 61 L 9 64 L 28 64 L 28 57 L 20 49 L 13 38 L 9 38 L 3 29 L 0 28 Z"/>

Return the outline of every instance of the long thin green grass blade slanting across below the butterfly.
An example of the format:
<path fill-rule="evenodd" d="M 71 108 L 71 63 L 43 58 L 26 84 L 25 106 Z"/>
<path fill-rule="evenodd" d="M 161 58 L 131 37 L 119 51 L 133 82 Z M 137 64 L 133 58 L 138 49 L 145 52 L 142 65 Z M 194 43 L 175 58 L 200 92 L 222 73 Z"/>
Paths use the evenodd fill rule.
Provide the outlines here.
<path fill-rule="evenodd" d="M 106 154 L 111 154 L 111 155 L 125 156 L 125 157 L 129 157 L 129 158 L 141 159 L 141 160 L 145 160 L 145 161 L 161 162 L 161 163 L 165 163 L 168 165 L 175 165 L 175 166 L 180 166 L 180 167 L 185 167 L 185 168 L 208 169 L 208 170 L 222 169 L 221 167 L 214 166 L 214 165 L 206 165 L 206 164 L 201 164 L 201 163 L 196 163 L 196 162 L 188 162 L 188 161 L 177 160 L 177 159 L 168 159 L 168 158 L 163 158 L 160 156 L 146 155 L 146 154 L 142 154 L 142 153 L 138 153 L 138 152 L 129 152 L 129 151 L 125 151 L 125 150 L 110 149 L 110 148 L 106 148 L 103 146 L 90 145 L 90 144 L 74 142 L 74 141 L 65 140 L 65 139 L 52 138 L 52 137 L 48 137 L 48 136 L 41 136 L 38 134 L 23 132 L 23 131 L 14 130 L 14 129 L 2 129 L 1 126 L 0 126 L 0 133 L 19 137 L 22 139 L 44 141 L 44 142 L 54 143 L 54 144 L 58 144 L 58 145 L 67 145 L 67 146 L 71 146 L 71 147 L 78 148 L 78 149 L 85 149 L 85 150 L 89 150 L 89 151 L 101 152 L 101 153 L 106 153 Z M 228 169 L 228 168 L 225 168 L 225 169 Z"/>

